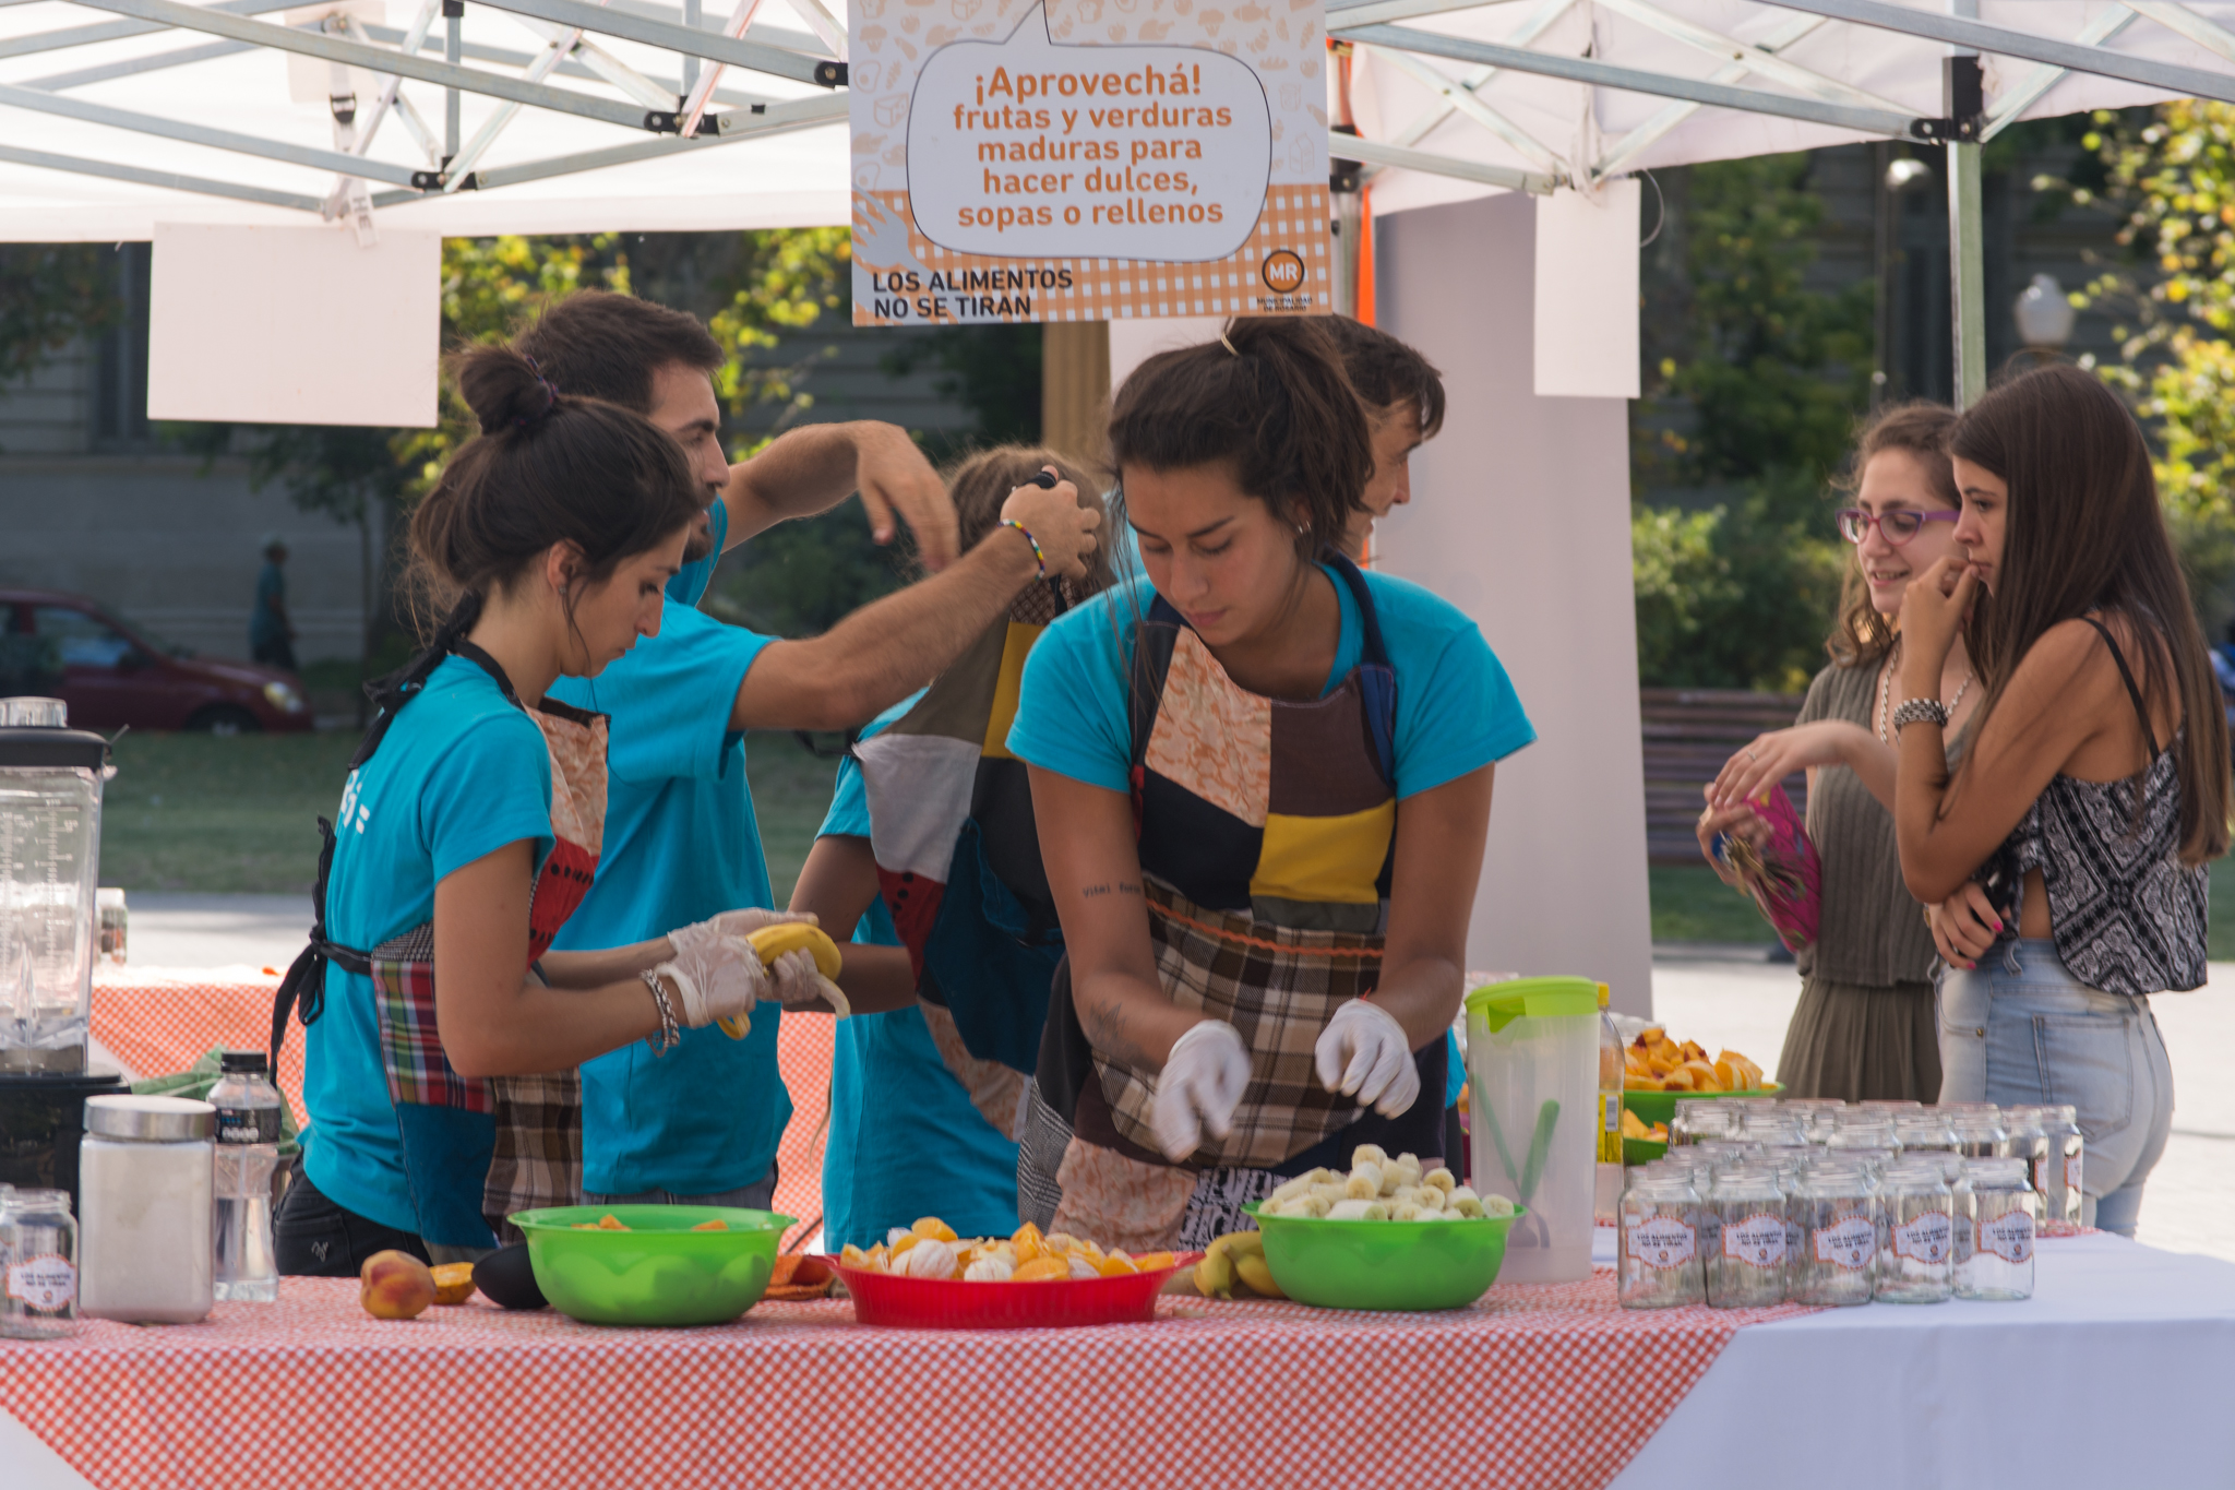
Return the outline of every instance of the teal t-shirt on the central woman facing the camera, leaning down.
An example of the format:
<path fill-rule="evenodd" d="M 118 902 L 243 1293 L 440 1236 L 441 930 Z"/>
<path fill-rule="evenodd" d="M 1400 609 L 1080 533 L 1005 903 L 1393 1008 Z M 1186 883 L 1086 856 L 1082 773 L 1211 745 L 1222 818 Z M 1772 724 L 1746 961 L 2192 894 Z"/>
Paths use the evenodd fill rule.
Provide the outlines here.
<path fill-rule="evenodd" d="M 1366 648 L 1350 585 L 1328 572 L 1343 605 L 1328 686 L 1334 693 Z M 1504 760 L 1535 739 L 1504 663 L 1451 601 L 1388 574 L 1368 574 L 1381 643 L 1397 672 L 1397 797 L 1413 797 Z M 1129 677 L 1133 617 L 1153 590 L 1133 579 L 1073 605 L 1024 663 L 1008 748 L 1044 771 L 1106 791 L 1131 791 Z"/>

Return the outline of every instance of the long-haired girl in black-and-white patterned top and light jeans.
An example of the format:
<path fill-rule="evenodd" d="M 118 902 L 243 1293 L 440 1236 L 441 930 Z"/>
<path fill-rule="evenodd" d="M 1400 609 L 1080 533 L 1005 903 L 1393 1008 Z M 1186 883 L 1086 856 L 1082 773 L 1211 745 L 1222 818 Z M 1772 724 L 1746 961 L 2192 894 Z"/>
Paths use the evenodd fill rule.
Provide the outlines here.
<path fill-rule="evenodd" d="M 1895 835 L 1951 972 L 1940 1099 L 2070 1104 L 2083 1220 L 2132 1235 L 2172 1070 L 2150 994 L 2204 983 L 2228 735 L 2150 451 L 2096 378 L 2014 378 L 1949 436 L 1965 556 L 1902 601 Z M 1942 661 L 1985 697 L 1951 773 Z"/>

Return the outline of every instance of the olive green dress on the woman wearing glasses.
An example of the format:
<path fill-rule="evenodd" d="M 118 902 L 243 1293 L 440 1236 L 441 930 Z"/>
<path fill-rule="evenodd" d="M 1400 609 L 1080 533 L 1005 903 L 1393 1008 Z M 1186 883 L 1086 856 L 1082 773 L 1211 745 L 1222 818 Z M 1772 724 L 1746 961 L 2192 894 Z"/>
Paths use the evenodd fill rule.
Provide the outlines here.
<path fill-rule="evenodd" d="M 1877 668 L 1824 668 L 1797 724 L 1846 719 L 1877 733 Z M 1788 1097 L 1938 1101 L 1933 936 L 1902 885 L 1893 813 L 1846 766 L 1822 766 L 1808 793 L 1808 838 L 1824 862 L 1824 916 L 1799 954 L 1801 1001 L 1777 1079 Z"/>

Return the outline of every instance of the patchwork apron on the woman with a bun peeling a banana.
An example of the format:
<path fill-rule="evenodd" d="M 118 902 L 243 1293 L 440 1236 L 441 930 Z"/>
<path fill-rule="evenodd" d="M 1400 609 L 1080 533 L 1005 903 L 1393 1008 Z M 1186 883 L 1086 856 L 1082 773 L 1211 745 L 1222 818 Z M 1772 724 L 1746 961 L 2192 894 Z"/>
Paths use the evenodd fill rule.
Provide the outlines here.
<path fill-rule="evenodd" d="M 525 708 L 494 657 L 472 641 L 438 639 L 375 697 L 380 715 L 367 730 L 349 768 L 373 757 L 396 713 L 405 708 L 443 657 L 458 652 L 483 668 L 543 733 L 552 762 L 552 851 L 536 871 L 527 905 L 527 967 L 532 970 L 559 927 L 574 914 L 590 880 L 606 833 L 606 715 L 545 699 Z M 434 923 L 391 936 L 371 952 L 326 938 L 326 876 L 333 869 L 333 824 L 317 820 L 324 847 L 317 856 L 317 907 L 311 945 L 302 949 L 273 1003 L 273 1068 L 286 1041 L 291 1010 L 308 1028 L 324 1012 L 326 963 L 373 983 L 380 1028 L 380 1061 L 396 1104 L 402 1139 L 405 1184 L 418 1213 L 418 1233 L 438 1260 L 496 1247 L 496 1231 L 512 1211 L 572 1204 L 581 1195 L 581 1079 L 574 1072 L 543 1077 L 460 1077 L 443 1054 L 434 1001 Z"/>

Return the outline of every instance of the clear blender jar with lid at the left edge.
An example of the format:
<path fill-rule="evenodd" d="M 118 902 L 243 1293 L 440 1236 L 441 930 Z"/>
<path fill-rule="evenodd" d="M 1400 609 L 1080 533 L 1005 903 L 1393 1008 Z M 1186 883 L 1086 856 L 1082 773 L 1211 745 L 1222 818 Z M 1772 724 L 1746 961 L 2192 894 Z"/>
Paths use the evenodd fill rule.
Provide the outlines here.
<path fill-rule="evenodd" d="M 0 1074 L 85 1070 L 107 742 L 0 701 Z"/>

